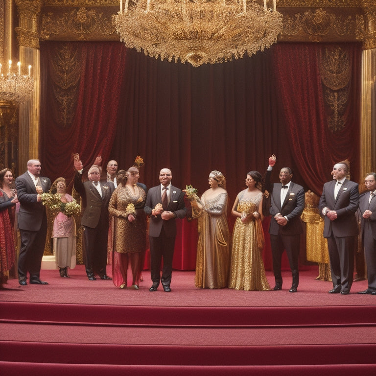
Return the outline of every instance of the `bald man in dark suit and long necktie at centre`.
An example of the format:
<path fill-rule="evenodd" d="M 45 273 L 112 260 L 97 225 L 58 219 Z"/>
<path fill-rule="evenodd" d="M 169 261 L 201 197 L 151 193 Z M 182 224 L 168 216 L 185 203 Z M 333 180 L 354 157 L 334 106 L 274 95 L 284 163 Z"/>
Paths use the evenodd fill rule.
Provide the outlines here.
<path fill-rule="evenodd" d="M 150 215 L 150 263 L 153 284 L 149 291 L 157 291 L 160 281 L 164 291 L 171 291 L 172 258 L 176 237 L 175 219 L 186 216 L 185 193 L 172 186 L 171 179 L 171 171 L 168 168 L 163 168 L 159 174 L 161 184 L 149 189 L 144 207 L 145 213 Z"/>

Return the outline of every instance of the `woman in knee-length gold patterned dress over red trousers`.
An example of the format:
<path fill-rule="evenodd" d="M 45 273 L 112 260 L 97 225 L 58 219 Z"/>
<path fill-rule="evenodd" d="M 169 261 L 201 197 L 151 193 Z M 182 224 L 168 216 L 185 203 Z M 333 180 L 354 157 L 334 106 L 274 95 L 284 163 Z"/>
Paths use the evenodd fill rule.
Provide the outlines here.
<path fill-rule="evenodd" d="M 138 183 L 139 176 L 136 166 L 127 171 L 120 170 L 117 176 L 118 188 L 112 194 L 108 207 L 112 217 L 113 282 L 120 288 L 130 284 L 127 282 L 130 266 L 132 287 L 136 290 L 139 289 L 146 251 L 146 215 L 143 207 L 147 189 L 144 184 Z"/>

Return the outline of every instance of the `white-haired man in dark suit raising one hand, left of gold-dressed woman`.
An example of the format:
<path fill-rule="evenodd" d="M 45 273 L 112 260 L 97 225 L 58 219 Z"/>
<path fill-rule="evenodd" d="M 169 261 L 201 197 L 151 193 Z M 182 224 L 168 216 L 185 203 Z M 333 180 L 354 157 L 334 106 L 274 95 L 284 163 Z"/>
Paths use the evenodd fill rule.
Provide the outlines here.
<path fill-rule="evenodd" d="M 88 172 L 89 180 L 82 182 L 82 162 L 78 155 L 74 156 L 74 189 L 81 195 L 84 212 L 81 224 L 84 227 L 84 261 L 86 274 L 90 281 L 95 281 L 97 274 L 101 280 L 110 280 L 106 273 L 107 237 L 108 237 L 108 204 L 114 183 L 100 182 L 101 168 L 94 164 Z"/>

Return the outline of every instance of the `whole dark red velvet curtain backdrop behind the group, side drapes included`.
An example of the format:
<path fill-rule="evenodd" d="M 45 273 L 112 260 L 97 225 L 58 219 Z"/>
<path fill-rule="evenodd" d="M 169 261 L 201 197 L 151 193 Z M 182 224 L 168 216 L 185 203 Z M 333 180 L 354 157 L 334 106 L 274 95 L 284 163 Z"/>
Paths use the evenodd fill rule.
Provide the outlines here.
<path fill-rule="evenodd" d="M 68 64 L 64 48 L 80 62 L 71 123 L 61 124 L 58 90 Z M 161 168 L 172 183 L 192 184 L 202 194 L 211 170 L 227 180 L 230 212 L 249 170 L 264 172 L 277 155 L 272 181 L 290 166 L 294 181 L 320 194 L 335 162 L 348 158 L 358 168 L 360 46 L 341 46 L 351 56 L 351 87 L 345 128 L 330 133 L 319 70 L 320 44 L 277 44 L 252 57 L 193 68 L 144 56 L 121 43 L 41 44 L 42 105 L 40 156 L 53 181 L 73 176 L 72 152 L 84 164 L 97 155 L 128 168 L 145 161 L 140 181 L 159 184 Z M 74 59 L 73 59 L 74 60 Z M 69 92 L 69 88 L 65 89 Z M 74 90 L 72 89 L 72 92 Z M 57 93 L 57 94 L 56 94 Z M 60 94 L 61 96 L 61 94 Z M 73 108 L 71 107 L 71 108 Z M 230 227 L 234 219 L 229 215 Z M 193 269 L 195 222 L 180 221 L 174 267 Z M 266 237 L 267 236 L 267 228 Z M 268 239 L 267 239 L 268 240 Z M 270 265 L 270 246 L 264 250 Z"/>

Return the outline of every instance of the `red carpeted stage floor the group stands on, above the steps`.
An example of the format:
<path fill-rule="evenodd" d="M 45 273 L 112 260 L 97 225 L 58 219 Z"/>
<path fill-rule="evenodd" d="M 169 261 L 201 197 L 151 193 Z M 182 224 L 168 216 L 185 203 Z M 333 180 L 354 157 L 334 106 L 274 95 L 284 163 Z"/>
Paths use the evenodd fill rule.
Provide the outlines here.
<path fill-rule="evenodd" d="M 349 295 L 328 294 L 331 282 L 317 281 L 317 270 L 300 273 L 297 293 L 290 293 L 291 274 L 283 272 L 282 291 L 237 291 L 198 289 L 194 286 L 194 271 L 173 271 L 171 289 L 162 286 L 149 292 L 150 272 L 143 271 L 140 290 L 119 289 L 112 281 L 89 281 L 83 265 L 70 271 L 71 278 L 61 278 L 58 270 L 42 270 L 41 279 L 48 285 L 20 286 L 9 280 L 0 290 L 0 302 L 33 302 L 88 305 L 188 306 L 188 307 L 289 307 L 330 305 L 376 305 L 376 296 L 356 294 L 367 288 L 367 281 L 354 282 Z M 266 272 L 270 286 L 274 286 L 272 272 Z"/>

